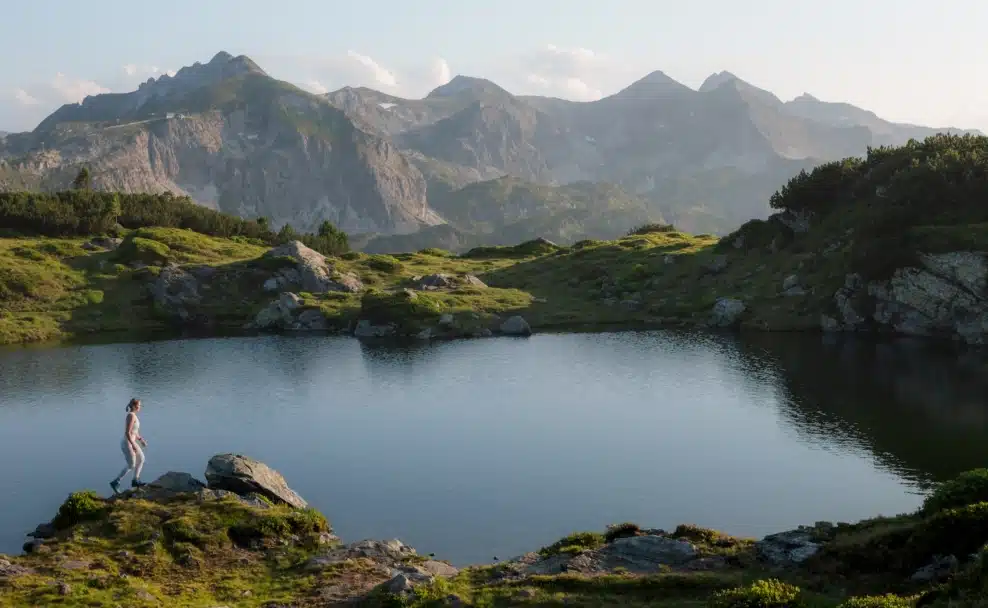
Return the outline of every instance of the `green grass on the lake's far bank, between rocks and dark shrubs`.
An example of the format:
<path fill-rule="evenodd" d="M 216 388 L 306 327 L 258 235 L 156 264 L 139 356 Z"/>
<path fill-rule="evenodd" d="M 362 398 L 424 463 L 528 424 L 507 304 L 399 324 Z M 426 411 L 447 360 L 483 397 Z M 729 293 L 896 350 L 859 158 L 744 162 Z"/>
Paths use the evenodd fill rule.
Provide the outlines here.
<path fill-rule="evenodd" d="M 429 314 L 395 310 L 393 318 L 382 317 L 399 325 L 410 321 L 409 332 L 443 313 L 478 328 L 492 326 L 493 315 L 508 314 L 523 315 L 536 330 L 696 326 L 706 323 L 722 297 L 744 301 L 743 330 L 788 331 L 818 330 L 821 315 L 834 315 L 834 293 L 850 272 L 871 276 L 914 264 L 917 250 L 988 249 L 988 224 L 912 227 L 898 244 L 857 238 L 882 213 L 861 204 L 817 218 L 802 234 L 778 220 L 750 222 L 723 240 L 655 225 L 572 247 L 528 241 L 459 256 L 442 250 L 351 252 L 329 261 L 392 299 L 415 286 L 416 277 L 436 273 L 472 274 L 489 286 L 420 292 Z M 214 327 L 242 328 L 272 299 L 261 289 L 265 278 L 291 264 L 260 257 L 266 249 L 249 239 L 178 229 L 132 231 L 117 252 L 86 251 L 83 242 L 0 239 L 0 343 L 166 329 L 168 320 L 153 310 L 146 292 L 165 263 L 215 269 L 204 283 L 199 312 Z M 711 271 L 718 261 L 726 264 Z M 133 262 L 151 266 L 135 270 Z M 798 277 L 801 294 L 783 293 L 790 275 Z M 349 327 L 361 316 L 360 294 L 303 297 L 331 328 Z"/>

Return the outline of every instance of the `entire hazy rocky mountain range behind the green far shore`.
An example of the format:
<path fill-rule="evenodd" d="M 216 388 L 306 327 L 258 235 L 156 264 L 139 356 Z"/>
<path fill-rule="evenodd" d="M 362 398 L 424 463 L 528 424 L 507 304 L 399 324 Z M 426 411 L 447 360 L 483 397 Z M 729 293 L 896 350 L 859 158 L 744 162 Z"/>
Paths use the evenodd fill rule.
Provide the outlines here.
<path fill-rule="evenodd" d="M 729 72 L 652 72 L 592 102 L 456 76 L 422 99 L 325 95 L 218 53 L 136 91 L 87 97 L 0 137 L 0 189 L 187 194 L 275 226 L 329 220 L 369 249 L 610 238 L 637 223 L 727 232 L 801 168 L 937 132 Z"/>

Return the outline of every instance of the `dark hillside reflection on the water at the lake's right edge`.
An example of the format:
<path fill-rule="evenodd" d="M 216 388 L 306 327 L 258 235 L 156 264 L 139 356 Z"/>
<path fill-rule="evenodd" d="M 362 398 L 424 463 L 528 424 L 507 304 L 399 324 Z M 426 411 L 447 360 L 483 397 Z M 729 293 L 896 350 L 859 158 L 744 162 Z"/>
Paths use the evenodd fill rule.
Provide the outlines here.
<path fill-rule="evenodd" d="M 913 339 L 758 335 L 745 358 L 779 370 L 780 415 L 809 441 L 867 449 L 926 489 L 988 459 L 984 354 Z"/>

